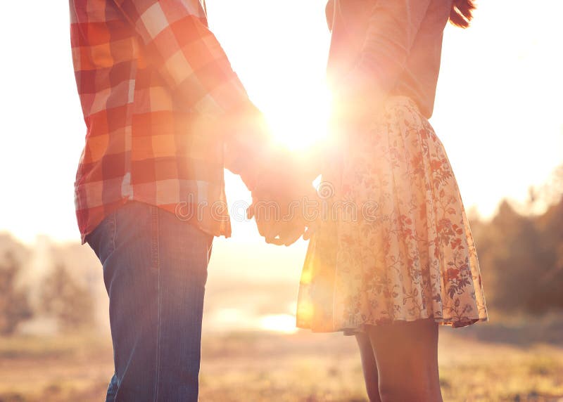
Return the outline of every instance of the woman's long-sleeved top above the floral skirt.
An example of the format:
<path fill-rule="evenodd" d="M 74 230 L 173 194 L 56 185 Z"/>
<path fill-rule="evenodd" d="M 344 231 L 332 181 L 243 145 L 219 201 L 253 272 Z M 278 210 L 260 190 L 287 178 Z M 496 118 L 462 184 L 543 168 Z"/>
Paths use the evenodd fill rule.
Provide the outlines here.
<path fill-rule="evenodd" d="M 451 8 L 452 0 L 329 1 L 329 82 L 364 63 L 382 89 L 412 98 L 430 117 Z"/>

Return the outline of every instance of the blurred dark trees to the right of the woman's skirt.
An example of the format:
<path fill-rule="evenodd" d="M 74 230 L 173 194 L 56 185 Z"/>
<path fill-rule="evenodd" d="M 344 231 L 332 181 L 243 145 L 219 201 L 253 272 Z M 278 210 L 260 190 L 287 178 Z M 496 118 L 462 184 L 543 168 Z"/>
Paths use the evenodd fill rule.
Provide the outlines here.
<path fill-rule="evenodd" d="M 531 213 L 538 204 L 548 208 Z M 504 200 L 491 221 L 470 221 L 489 309 L 563 309 L 563 165 L 544 186 L 530 188 L 526 205 Z"/>

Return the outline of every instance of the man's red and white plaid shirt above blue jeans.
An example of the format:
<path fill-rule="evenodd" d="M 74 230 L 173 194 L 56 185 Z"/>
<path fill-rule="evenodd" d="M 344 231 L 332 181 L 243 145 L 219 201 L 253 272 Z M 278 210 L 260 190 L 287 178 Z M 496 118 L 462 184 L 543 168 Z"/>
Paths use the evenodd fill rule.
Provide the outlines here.
<path fill-rule="evenodd" d="M 208 29 L 204 0 L 70 0 L 70 32 L 87 126 L 75 182 L 82 242 L 129 200 L 230 235 L 223 168 L 250 186 L 241 160 L 263 132 L 224 126 L 259 113 Z"/>

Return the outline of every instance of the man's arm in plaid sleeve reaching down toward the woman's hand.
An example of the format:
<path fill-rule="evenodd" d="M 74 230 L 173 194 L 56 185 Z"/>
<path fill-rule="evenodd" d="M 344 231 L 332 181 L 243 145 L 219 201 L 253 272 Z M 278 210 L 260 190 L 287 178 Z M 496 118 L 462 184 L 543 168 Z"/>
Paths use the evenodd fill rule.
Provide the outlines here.
<path fill-rule="evenodd" d="M 226 143 L 225 167 L 249 188 L 269 142 L 261 113 L 207 26 L 198 0 L 113 0 L 144 44 L 148 62 L 186 110 L 194 110 Z M 253 166 L 250 164 L 253 162 Z"/>

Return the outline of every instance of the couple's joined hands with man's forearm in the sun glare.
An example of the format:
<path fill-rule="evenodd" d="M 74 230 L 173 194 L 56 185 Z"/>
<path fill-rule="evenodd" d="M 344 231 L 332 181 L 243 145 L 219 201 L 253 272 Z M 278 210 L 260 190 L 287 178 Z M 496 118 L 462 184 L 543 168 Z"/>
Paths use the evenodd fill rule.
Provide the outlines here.
<path fill-rule="evenodd" d="M 247 216 L 255 218 L 260 235 L 286 246 L 302 235 L 307 238 L 313 222 L 306 207 L 316 200 L 316 158 L 274 144 L 264 116 L 253 106 L 233 111 L 222 120 L 220 131 L 231 134 L 224 141 L 224 164 L 251 190 Z"/>

